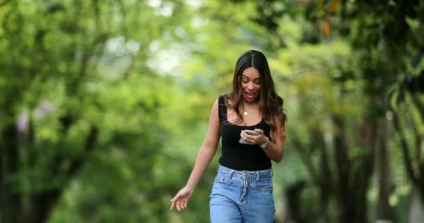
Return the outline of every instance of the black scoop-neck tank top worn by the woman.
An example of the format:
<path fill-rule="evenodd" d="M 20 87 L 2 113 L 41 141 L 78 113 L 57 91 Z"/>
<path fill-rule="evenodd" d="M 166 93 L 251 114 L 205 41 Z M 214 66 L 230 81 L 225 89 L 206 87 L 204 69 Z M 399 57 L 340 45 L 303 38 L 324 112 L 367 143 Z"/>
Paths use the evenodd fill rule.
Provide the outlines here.
<path fill-rule="evenodd" d="M 227 106 L 224 95 L 218 98 L 220 135 L 222 144 L 222 156 L 220 164 L 234 170 L 257 171 L 271 168 L 271 160 L 259 145 L 239 143 L 241 130 L 264 130 L 266 137 L 270 138 L 271 127 L 262 119 L 256 125 L 241 126 L 227 121 Z"/>

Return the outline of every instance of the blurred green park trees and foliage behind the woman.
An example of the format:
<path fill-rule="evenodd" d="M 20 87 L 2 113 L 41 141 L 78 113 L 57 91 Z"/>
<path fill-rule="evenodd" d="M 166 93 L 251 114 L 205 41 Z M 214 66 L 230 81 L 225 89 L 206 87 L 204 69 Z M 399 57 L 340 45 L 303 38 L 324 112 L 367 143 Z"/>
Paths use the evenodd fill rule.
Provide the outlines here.
<path fill-rule="evenodd" d="M 275 222 L 424 222 L 424 1 L 1 0 L 0 222 L 209 222 L 236 59 L 287 109 Z"/>

